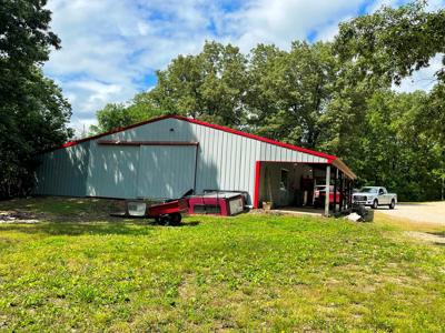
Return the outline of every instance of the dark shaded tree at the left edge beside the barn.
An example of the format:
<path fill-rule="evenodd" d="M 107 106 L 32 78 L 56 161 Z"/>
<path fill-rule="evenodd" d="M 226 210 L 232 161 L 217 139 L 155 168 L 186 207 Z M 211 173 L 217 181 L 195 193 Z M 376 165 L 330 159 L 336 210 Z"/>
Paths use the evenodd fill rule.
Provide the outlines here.
<path fill-rule="evenodd" d="M 41 64 L 60 40 L 46 1 L 0 6 L 0 198 L 27 194 L 37 154 L 65 142 L 71 109 Z"/>

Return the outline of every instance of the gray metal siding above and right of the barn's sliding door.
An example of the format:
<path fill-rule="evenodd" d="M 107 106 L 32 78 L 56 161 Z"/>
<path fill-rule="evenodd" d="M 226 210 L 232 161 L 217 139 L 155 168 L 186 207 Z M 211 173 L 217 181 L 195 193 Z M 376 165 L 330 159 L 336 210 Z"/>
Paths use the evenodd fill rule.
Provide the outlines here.
<path fill-rule="evenodd" d="M 327 162 L 324 158 L 178 119 L 165 119 L 101 139 L 199 142 L 197 192 L 205 189 L 243 190 L 250 194 L 250 200 L 256 161 Z"/>

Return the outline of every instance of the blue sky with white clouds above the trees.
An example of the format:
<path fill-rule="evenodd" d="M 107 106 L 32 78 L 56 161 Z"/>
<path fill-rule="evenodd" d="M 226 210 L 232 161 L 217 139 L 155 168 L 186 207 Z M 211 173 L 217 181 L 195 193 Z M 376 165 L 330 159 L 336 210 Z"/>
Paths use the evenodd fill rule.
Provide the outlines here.
<path fill-rule="evenodd" d="M 405 0 L 50 0 L 52 30 L 62 49 L 44 72 L 72 104 L 72 125 L 95 122 L 95 111 L 156 84 L 155 71 L 179 53 L 197 53 L 205 40 L 248 51 L 258 42 L 287 49 L 291 40 L 330 40 L 340 21 Z M 431 0 L 432 9 L 445 0 Z M 428 89 L 429 69 L 400 90 Z"/>

